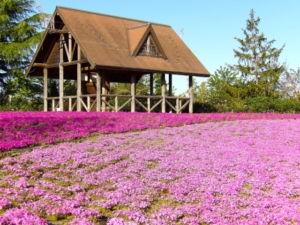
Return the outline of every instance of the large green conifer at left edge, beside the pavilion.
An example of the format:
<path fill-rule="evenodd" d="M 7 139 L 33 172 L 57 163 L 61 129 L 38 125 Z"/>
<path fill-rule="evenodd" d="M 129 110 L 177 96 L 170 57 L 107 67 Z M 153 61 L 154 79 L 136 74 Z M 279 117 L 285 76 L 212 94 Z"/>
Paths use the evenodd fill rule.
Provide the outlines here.
<path fill-rule="evenodd" d="M 41 82 L 25 79 L 34 50 L 41 40 L 40 17 L 32 0 L 0 1 L 0 92 L 16 98 L 39 97 Z M 35 91 L 38 91 L 36 93 Z"/>

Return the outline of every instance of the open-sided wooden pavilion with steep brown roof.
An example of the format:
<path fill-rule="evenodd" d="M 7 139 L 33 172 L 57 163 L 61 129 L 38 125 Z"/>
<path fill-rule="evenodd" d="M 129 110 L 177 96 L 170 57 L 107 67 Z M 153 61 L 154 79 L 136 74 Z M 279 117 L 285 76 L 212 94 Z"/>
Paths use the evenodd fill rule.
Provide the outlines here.
<path fill-rule="evenodd" d="M 153 95 L 154 73 L 162 74 L 161 96 Z M 172 74 L 189 77 L 188 98 L 172 96 Z M 192 113 L 192 78 L 209 72 L 170 26 L 56 7 L 26 75 L 44 78 L 44 111 L 50 104 L 53 111 L 116 112 L 130 105 L 131 112 L 160 106 L 162 112 L 188 107 Z M 150 75 L 150 93 L 138 96 L 136 83 L 143 75 Z M 48 79 L 59 80 L 59 96 L 48 97 Z M 64 96 L 65 79 L 76 81 L 75 96 Z M 131 94 L 110 94 L 110 82 L 130 83 Z M 122 105 L 120 98 L 126 98 Z"/>

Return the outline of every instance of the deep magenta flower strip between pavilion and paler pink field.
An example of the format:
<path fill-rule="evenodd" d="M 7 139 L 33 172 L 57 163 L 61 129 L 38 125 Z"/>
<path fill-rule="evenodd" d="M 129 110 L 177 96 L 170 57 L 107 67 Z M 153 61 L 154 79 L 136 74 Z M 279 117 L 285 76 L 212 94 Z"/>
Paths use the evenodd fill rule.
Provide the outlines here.
<path fill-rule="evenodd" d="M 120 133 L 193 123 L 299 118 L 293 114 L 172 114 L 97 112 L 0 112 L 0 151 L 50 144 L 101 133 Z"/>

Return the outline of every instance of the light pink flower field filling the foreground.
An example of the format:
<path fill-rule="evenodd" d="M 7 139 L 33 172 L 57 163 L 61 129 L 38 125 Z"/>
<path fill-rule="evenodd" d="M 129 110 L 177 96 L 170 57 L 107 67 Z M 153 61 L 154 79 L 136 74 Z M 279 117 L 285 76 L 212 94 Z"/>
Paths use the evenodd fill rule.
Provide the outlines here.
<path fill-rule="evenodd" d="M 107 134 L 0 160 L 0 221 L 300 224 L 300 120 Z"/>

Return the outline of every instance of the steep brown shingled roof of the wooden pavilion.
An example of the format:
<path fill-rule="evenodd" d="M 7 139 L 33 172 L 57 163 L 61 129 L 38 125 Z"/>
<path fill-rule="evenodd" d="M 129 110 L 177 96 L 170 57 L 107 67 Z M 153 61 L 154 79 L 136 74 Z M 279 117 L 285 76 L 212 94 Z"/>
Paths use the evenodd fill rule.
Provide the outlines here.
<path fill-rule="evenodd" d="M 207 69 L 170 26 L 65 7 L 57 7 L 54 16 L 57 15 L 95 68 L 209 76 Z M 137 55 L 149 33 L 163 58 Z M 53 48 L 57 42 L 50 41 L 56 37 L 51 35 L 46 31 L 30 71 L 33 63 L 45 61 L 41 56 L 45 48 Z"/>

